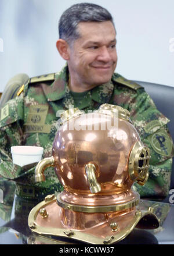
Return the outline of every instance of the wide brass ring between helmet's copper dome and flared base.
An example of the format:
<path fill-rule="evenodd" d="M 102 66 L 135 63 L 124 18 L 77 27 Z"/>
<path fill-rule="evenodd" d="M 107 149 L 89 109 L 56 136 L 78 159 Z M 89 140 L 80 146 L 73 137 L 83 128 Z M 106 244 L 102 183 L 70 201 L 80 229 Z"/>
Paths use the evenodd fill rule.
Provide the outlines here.
<path fill-rule="evenodd" d="M 77 205 L 77 204 L 70 204 L 68 202 L 64 202 L 60 199 L 60 194 L 57 195 L 57 204 L 64 208 L 69 209 L 75 212 L 88 212 L 88 213 L 97 213 L 97 212 L 116 212 L 116 211 L 123 211 L 125 209 L 129 209 L 135 207 L 139 204 L 140 198 L 137 194 L 137 197 L 129 202 L 125 202 L 124 204 L 118 205 L 100 205 L 100 206 L 86 206 L 86 205 Z"/>

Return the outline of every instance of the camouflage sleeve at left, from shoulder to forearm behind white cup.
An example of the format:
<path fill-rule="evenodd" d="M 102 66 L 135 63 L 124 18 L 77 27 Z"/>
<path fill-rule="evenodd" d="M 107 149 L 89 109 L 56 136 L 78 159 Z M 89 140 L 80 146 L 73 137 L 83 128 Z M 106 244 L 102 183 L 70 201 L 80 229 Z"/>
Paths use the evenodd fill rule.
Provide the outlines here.
<path fill-rule="evenodd" d="M 16 183 L 16 194 L 24 198 L 44 199 L 48 194 L 62 191 L 55 170 L 48 168 L 45 182 L 35 182 L 35 163 L 23 167 L 12 162 L 11 147 L 25 145 L 23 95 L 11 99 L 1 109 L 0 119 L 0 177 Z"/>

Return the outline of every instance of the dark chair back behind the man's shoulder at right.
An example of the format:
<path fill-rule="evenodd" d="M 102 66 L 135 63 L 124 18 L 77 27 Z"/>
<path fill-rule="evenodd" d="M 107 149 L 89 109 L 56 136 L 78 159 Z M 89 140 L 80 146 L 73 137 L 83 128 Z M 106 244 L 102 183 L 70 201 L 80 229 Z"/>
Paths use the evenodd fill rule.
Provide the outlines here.
<path fill-rule="evenodd" d="M 146 90 L 153 99 L 157 109 L 163 113 L 166 118 L 171 120 L 171 122 L 168 123 L 168 128 L 174 141 L 174 87 L 142 81 L 135 82 L 144 87 L 144 90 Z M 172 165 L 170 189 L 174 189 L 174 161 Z"/>

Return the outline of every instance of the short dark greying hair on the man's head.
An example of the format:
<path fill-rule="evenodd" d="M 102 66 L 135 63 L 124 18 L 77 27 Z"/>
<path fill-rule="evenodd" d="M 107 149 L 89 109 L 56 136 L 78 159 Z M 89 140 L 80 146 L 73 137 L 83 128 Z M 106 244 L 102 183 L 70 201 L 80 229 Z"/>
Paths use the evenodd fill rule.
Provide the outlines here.
<path fill-rule="evenodd" d="M 102 6 L 95 5 L 94 3 L 77 3 L 65 10 L 61 15 L 59 20 L 59 38 L 71 44 L 80 36 L 77 31 L 78 23 L 106 21 L 112 22 L 114 26 L 113 17 Z"/>

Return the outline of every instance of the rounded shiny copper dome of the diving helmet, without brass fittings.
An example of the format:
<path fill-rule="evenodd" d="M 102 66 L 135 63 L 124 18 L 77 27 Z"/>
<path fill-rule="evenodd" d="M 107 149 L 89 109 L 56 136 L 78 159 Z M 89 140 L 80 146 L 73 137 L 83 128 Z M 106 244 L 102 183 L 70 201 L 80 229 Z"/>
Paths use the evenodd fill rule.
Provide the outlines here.
<path fill-rule="evenodd" d="M 139 134 L 131 123 L 121 119 L 118 129 L 115 126 L 108 129 L 110 121 L 114 122 L 114 118 L 98 113 L 96 119 L 94 113 L 88 113 L 88 120 L 86 115 L 78 116 L 64 123 L 57 132 L 53 143 L 55 171 L 71 197 L 91 194 L 85 172 L 87 163 L 96 166 L 96 179 L 102 189 L 97 196 L 115 194 L 117 197 L 119 194 L 121 201 L 124 201 L 125 194 L 130 197 L 133 181 L 128 175 L 128 158 L 131 148 L 140 140 Z M 88 130 L 89 124 L 91 130 Z M 99 130 L 95 130 L 96 124 Z M 81 130 L 71 131 L 70 127 L 75 125 Z M 103 127 L 106 130 L 102 130 Z M 95 195 L 91 196 L 95 198 Z"/>

